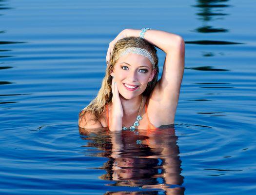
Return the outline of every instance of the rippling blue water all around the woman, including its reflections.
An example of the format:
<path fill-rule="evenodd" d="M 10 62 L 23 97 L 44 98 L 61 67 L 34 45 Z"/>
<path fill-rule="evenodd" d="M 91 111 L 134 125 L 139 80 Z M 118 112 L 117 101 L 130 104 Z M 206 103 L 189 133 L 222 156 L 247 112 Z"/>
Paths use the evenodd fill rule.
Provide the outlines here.
<path fill-rule="evenodd" d="M 255 8 L 251 0 L 0 0 L 0 194 L 256 194 Z M 186 41 L 175 127 L 79 132 L 109 42 L 142 27 Z M 159 49 L 158 57 L 161 71 Z"/>

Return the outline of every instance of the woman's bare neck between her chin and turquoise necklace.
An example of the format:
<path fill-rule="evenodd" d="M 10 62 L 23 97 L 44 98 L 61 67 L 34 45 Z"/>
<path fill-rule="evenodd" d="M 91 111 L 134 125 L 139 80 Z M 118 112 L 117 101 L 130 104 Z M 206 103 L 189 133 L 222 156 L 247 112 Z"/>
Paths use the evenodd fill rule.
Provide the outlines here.
<path fill-rule="evenodd" d="M 120 96 L 120 100 L 123 107 L 123 115 L 124 116 L 130 116 L 134 113 L 138 115 L 138 110 L 141 104 L 142 95 L 139 95 L 138 97 L 132 98 L 132 99 L 125 99 Z M 145 103 L 144 97 L 143 97 L 143 104 Z M 143 108 L 143 104 L 141 105 L 140 113 Z"/>

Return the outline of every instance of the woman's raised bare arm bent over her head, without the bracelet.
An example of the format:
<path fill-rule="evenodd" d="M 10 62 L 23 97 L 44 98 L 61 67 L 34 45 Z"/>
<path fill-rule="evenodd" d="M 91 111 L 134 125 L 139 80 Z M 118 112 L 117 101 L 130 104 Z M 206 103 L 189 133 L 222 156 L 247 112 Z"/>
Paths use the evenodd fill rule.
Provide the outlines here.
<path fill-rule="evenodd" d="M 126 37 L 139 37 L 140 30 L 125 29 L 124 32 Z M 178 35 L 159 30 L 148 30 L 144 39 L 166 53 L 162 77 L 154 89 L 152 98 L 165 105 L 171 103 L 176 109 L 184 72 L 184 40 Z"/>

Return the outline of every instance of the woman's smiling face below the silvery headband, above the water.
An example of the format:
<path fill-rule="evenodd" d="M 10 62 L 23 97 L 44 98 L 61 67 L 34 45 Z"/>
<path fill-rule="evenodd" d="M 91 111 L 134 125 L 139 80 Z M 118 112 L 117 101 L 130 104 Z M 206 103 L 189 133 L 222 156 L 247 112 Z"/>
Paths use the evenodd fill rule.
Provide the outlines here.
<path fill-rule="evenodd" d="M 132 99 L 142 94 L 155 76 L 150 60 L 138 54 L 120 57 L 111 76 L 115 77 L 120 95 Z"/>

